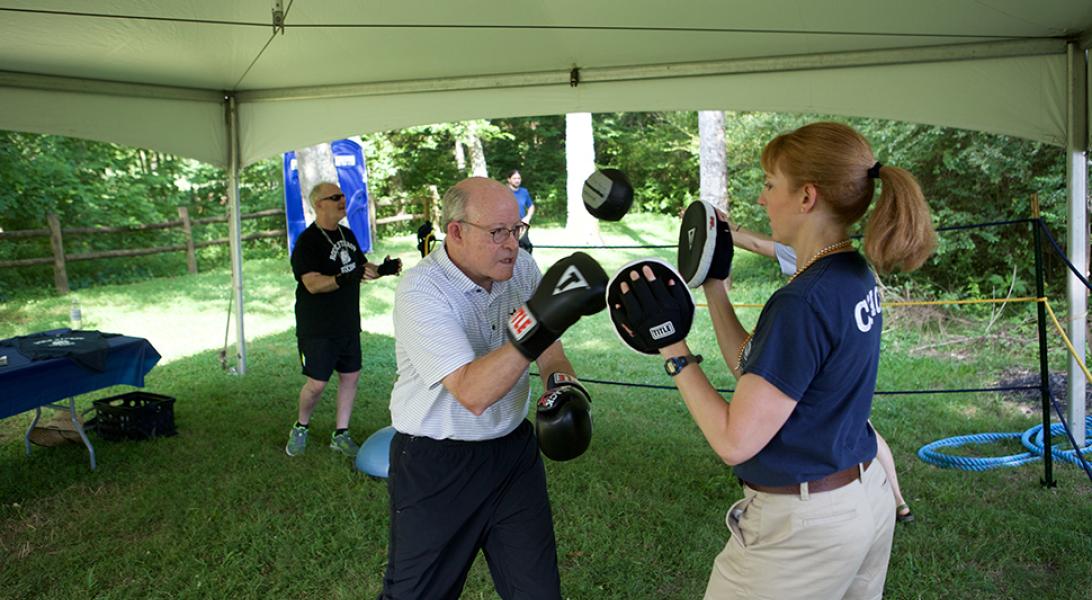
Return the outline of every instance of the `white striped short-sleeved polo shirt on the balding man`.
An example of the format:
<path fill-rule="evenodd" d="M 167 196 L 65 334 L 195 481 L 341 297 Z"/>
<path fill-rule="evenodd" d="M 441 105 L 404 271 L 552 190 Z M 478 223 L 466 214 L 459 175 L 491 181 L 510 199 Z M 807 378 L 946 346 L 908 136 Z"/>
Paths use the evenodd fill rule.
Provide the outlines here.
<path fill-rule="evenodd" d="M 391 424 L 434 439 L 501 437 L 527 415 L 527 372 L 503 398 L 475 415 L 441 383 L 452 372 L 507 341 L 508 316 L 531 297 L 542 272 L 520 250 L 512 279 L 487 292 L 455 267 L 447 247 L 402 274 L 394 293 L 394 354 L 399 378 L 391 391 Z"/>

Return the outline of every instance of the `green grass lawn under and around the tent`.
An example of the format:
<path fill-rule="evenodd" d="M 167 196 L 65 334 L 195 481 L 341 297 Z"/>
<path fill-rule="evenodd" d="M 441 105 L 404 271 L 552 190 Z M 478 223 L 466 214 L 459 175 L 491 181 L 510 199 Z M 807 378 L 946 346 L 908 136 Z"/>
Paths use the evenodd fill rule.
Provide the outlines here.
<path fill-rule="evenodd" d="M 631 215 L 604 227 L 608 244 L 669 244 L 674 226 Z M 536 230 L 537 244 L 563 244 Z M 383 240 L 380 256 L 416 263 L 410 237 Z M 548 266 L 572 250 L 536 249 Z M 613 273 L 644 250 L 592 250 Z M 669 250 L 656 256 L 674 262 Z M 293 331 L 294 281 L 286 260 L 248 261 L 248 373 L 223 372 L 228 270 L 82 290 L 84 327 L 145 337 L 164 355 L 150 391 L 177 399 L 179 434 L 150 442 L 93 438 L 23 452 L 31 413 L 0 422 L 2 598 L 373 598 L 387 552 L 387 489 L 333 456 L 333 393 L 312 420 L 307 454 L 284 454 L 302 384 Z M 741 255 L 733 298 L 761 303 L 781 280 L 772 261 Z M 48 284 L 48 282 L 44 282 Z M 395 281 L 363 294 L 365 373 L 353 414 L 358 439 L 389 424 L 395 373 L 390 321 Z M 702 298 L 698 297 L 701 302 Z M 0 305 L 0 338 L 67 325 L 67 298 Z M 1028 306 L 1012 307 L 1009 338 L 973 336 L 984 319 L 886 314 L 880 389 L 985 387 L 1012 367 L 1037 369 Z M 1022 313 L 1021 313 L 1022 311 Z M 970 315 L 970 314 L 969 314 Z M 757 309 L 741 310 L 750 325 Z M 234 338 L 234 327 L 232 329 Z M 1012 339 L 1022 340 L 1013 343 Z M 714 385 L 732 387 L 717 362 L 708 317 L 691 336 Z M 601 313 L 565 337 L 585 378 L 669 384 L 655 357 L 615 339 Z M 1052 337 L 1052 366 L 1065 360 Z M 332 387 L 332 386 L 331 386 Z M 674 391 L 590 385 L 595 438 L 586 455 L 549 462 L 562 591 L 575 599 L 700 598 L 727 539 L 724 511 L 741 495 Z M 104 390 L 91 400 L 124 389 Z M 537 392 L 537 388 L 533 392 Z M 0 390 L 2 396 L 3 390 Z M 888 598 L 1073 598 L 1089 596 L 1092 484 L 1058 464 L 1058 485 L 1040 485 L 1042 464 L 982 473 L 921 462 L 922 445 L 951 435 L 1023 431 L 1037 412 L 996 395 L 879 396 L 874 423 L 888 439 L 917 521 L 900 525 Z M 974 451 L 1008 454 L 997 444 Z M 464 598 L 496 598 L 484 561 Z"/>

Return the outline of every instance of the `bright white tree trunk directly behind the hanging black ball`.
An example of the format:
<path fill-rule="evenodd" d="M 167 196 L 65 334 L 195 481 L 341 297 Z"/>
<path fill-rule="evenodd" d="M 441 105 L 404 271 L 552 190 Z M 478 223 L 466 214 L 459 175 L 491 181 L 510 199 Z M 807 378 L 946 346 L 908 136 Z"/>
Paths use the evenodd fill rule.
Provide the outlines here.
<path fill-rule="evenodd" d="M 584 180 L 595 170 L 591 113 L 570 113 L 565 116 L 565 164 L 568 177 L 566 239 L 577 244 L 602 244 L 600 222 L 587 212 L 581 195 Z"/>

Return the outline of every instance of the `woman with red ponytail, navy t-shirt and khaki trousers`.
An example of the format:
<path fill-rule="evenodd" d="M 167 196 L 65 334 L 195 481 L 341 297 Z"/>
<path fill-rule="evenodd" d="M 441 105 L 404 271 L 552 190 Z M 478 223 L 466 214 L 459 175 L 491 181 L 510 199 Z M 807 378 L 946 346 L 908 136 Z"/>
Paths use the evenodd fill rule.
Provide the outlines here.
<path fill-rule="evenodd" d="M 881 165 L 845 125 L 779 136 L 761 164 L 759 204 L 772 237 L 800 261 L 752 333 L 736 317 L 726 280 L 703 283 L 717 344 L 737 377 L 732 402 L 710 385 L 685 339 L 657 344 L 705 440 L 744 486 L 726 515 L 731 537 L 705 598 L 879 598 L 895 506 L 868 423 L 883 327 L 874 269 L 921 267 L 936 233 L 913 175 Z M 873 205 L 876 179 L 882 189 L 862 256 L 848 232 Z M 628 274 L 624 297 L 637 290 L 628 302 L 646 322 L 685 322 L 673 305 L 680 301 L 641 299 L 650 289 L 685 283 L 657 283 L 651 269 L 641 271 Z"/>

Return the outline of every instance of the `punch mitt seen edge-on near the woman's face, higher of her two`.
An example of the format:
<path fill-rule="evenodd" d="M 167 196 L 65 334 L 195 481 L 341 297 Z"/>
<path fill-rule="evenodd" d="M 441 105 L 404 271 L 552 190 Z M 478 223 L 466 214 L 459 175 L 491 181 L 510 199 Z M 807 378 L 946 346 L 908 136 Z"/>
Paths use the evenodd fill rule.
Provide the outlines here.
<path fill-rule="evenodd" d="M 690 287 L 705 280 L 728 279 L 732 274 L 732 228 L 721 221 L 716 208 L 703 200 L 691 202 L 679 225 L 679 274 Z"/>

